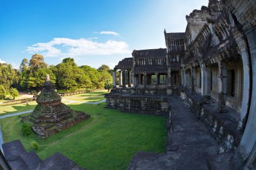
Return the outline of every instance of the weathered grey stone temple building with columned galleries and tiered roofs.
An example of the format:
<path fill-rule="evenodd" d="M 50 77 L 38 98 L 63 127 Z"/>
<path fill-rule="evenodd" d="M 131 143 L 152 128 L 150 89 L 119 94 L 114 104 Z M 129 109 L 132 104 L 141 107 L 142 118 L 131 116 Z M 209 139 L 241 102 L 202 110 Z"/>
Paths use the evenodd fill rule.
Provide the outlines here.
<path fill-rule="evenodd" d="M 214 151 L 205 153 L 212 157 L 205 160 L 207 165 L 212 169 L 256 169 L 256 1 L 210 0 L 207 7 L 192 11 L 186 19 L 185 32 L 164 30 L 166 48 L 133 50 L 131 58 L 114 68 L 106 108 L 168 116 L 166 155 L 137 153 L 128 169 L 179 167 L 168 160 L 177 152 L 187 152 L 183 140 L 174 140 L 180 135 L 175 130 L 187 124 L 177 124 L 183 119 L 177 113 L 181 107 L 190 108 L 195 122 L 201 122 L 217 144 L 214 155 Z M 177 105 L 179 99 L 183 106 Z M 198 138 L 191 136 L 191 140 Z M 183 158 L 187 159 L 172 161 L 179 164 L 180 160 L 183 167 L 189 154 Z M 205 158 L 195 155 L 195 159 Z M 220 167 L 224 164 L 227 166 Z"/>

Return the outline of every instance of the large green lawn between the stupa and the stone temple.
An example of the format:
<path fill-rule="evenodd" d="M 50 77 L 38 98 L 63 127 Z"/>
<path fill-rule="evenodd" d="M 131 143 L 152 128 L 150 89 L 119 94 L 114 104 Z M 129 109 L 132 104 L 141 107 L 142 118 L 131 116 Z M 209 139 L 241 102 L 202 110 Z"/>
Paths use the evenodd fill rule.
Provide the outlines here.
<path fill-rule="evenodd" d="M 35 134 L 23 136 L 20 116 L 2 119 L 4 141 L 20 139 L 31 151 L 30 142 L 36 140 L 41 159 L 61 152 L 87 169 L 126 169 L 137 151 L 165 152 L 166 118 L 127 114 L 105 109 L 104 105 L 71 103 L 71 108 L 91 118 L 45 140 Z"/>

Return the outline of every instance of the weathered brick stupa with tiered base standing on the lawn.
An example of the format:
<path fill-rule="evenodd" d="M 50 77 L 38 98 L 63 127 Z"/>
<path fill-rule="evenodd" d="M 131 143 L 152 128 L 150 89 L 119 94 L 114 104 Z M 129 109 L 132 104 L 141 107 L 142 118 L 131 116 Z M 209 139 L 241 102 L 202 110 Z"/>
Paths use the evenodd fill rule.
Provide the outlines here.
<path fill-rule="evenodd" d="M 55 92 L 49 75 L 46 75 L 42 92 L 38 95 L 36 102 L 38 105 L 30 114 L 29 120 L 32 122 L 32 129 L 41 138 L 56 134 L 90 118 L 90 115 L 71 110 L 67 105 L 61 103 L 61 97 Z"/>

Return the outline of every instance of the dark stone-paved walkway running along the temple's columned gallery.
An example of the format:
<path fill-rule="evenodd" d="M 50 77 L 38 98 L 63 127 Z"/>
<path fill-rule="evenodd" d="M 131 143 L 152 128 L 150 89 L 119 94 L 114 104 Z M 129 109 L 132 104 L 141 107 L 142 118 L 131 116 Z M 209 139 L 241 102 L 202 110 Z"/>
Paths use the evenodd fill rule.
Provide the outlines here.
<path fill-rule="evenodd" d="M 127 169 L 218 169 L 215 165 L 229 169 L 229 154 L 218 155 L 218 144 L 179 96 L 168 97 L 168 104 L 171 105 L 172 123 L 166 153 L 139 151 Z"/>

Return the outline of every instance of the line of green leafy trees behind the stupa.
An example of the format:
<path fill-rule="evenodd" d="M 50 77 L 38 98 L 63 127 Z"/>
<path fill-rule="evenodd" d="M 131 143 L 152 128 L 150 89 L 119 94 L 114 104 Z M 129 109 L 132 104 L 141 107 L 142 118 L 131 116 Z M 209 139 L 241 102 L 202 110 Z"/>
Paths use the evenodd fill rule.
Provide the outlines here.
<path fill-rule="evenodd" d="M 98 69 L 87 65 L 78 67 L 73 58 L 64 58 L 56 66 L 47 65 L 42 55 L 34 54 L 30 60 L 24 58 L 18 70 L 0 63 L 0 99 L 14 88 L 19 91 L 39 91 L 46 74 L 50 75 L 57 89 L 108 89 L 112 84 L 111 73 L 112 70 L 107 65 Z"/>

